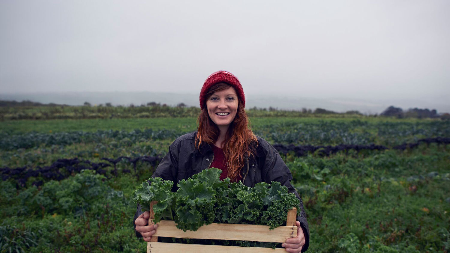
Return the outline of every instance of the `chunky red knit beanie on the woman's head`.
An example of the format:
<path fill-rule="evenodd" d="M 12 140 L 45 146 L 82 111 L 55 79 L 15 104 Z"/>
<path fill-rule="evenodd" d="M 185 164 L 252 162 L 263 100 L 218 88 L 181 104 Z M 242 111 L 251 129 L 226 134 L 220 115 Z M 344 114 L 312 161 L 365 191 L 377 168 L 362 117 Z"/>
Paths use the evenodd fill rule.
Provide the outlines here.
<path fill-rule="evenodd" d="M 212 73 L 205 80 L 202 90 L 200 91 L 200 109 L 203 110 L 203 108 L 206 107 L 206 93 L 208 93 L 212 85 L 218 83 L 227 83 L 233 86 L 233 88 L 236 89 L 236 92 L 238 93 L 238 96 L 242 101 L 242 107 L 245 107 L 244 90 L 242 89 L 242 85 L 239 82 L 238 78 L 228 71 L 221 70 Z"/>

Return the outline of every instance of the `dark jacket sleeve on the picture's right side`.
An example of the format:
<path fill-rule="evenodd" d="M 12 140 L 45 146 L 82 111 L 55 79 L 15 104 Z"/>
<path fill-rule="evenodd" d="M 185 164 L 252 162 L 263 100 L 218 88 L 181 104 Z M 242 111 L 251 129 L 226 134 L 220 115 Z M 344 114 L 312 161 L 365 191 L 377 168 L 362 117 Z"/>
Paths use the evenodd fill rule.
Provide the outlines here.
<path fill-rule="evenodd" d="M 300 222 L 300 226 L 303 229 L 303 234 L 305 235 L 305 245 L 303 245 L 302 252 L 305 252 L 309 247 L 310 232 L 308 221 L 306 220 L 305 209 L 303 208 L 303 201 L 298 195 L 297 191 L 291 184 L 292 174 L 288 166 L 284 163 L 283 159 L 279 155 L 275 148 L 271 147 L 270 152 L 266 155 L 266 161 L 264 163 L 263 173 L 266 175 L 266 182 L 278 181 L 282 185 L 288 187 L 289 192 L 296 195 L 297 199 L 300 200 L 300 216 L 297 216 L 297 221 Z"/>

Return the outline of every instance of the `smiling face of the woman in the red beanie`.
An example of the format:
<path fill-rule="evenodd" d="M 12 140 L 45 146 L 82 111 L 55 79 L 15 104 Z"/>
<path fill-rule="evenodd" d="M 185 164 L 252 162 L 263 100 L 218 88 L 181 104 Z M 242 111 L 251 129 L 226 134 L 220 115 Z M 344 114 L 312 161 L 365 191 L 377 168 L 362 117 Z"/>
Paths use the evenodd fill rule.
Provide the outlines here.
<path fill-rule="evenodd" d="M 208 115 L 212 122 L 216 123 L 219 129 L 226 127 L 233 122 L 238 112 L 238 95 L 233 87 L 216 91 L 206 99 Z"/>

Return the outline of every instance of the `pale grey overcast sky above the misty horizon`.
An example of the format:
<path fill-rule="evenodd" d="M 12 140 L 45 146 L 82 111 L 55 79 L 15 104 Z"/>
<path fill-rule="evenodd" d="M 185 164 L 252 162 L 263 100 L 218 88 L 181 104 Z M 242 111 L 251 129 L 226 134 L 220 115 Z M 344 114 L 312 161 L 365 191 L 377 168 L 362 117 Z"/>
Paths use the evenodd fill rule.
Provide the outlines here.
<path fill-rule="evenodd" d="M 450 97 L 450 1 L 0 2 L 0 93 Z M 414 106 L 414 105 L 412 105 Z"/>

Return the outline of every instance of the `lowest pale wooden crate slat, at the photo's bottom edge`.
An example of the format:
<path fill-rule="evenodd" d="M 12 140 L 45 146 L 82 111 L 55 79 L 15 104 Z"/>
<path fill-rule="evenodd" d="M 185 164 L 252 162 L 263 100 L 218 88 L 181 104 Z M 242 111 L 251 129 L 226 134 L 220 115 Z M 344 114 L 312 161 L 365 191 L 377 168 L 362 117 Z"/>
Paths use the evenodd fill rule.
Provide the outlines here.
<path fill-rule="evenodd" d="M 147 244 L 147 253 L 281 253 L 285 249 L 258 248 L 258 247 L 238 247 L 221 245 L 203 245 L 203 244 L 178 244 L 178 243 L 158 243 L 149 242 Z"/>

